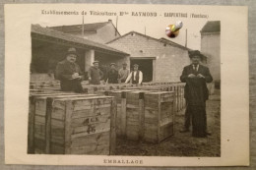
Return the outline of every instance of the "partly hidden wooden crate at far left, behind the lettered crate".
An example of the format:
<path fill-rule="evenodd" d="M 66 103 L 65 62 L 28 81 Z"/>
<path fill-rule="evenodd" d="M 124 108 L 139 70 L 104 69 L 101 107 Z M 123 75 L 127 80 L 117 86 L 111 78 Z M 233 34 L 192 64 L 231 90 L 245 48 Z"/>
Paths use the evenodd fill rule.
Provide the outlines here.
<path fill-rule="evenodd" d="M 45 142 L 45 122 L 47 113 L 47 98 L 63 98 L 63 97 L 74 97 L 74 96 L 92 96 L 87 94 L 77 93 L 37 93 L 30 95 L 30 109 L 29 109 L 29 126 L 28 126 L 28 153 L 45 153 L 46 142 Z"/>

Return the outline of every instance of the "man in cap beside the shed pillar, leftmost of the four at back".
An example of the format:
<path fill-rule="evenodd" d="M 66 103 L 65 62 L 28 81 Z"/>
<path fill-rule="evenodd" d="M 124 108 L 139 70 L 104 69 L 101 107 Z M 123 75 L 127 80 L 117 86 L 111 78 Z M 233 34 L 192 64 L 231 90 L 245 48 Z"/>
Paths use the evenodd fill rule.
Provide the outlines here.
<path fill-rule="evenodd" d="M 98 68 L 98 61 L 94 61 L 93 64 L 94 66 L 92 66 L 88 71 L 88 80 L 90 84 L 100 85 L 103 73 Z"/>

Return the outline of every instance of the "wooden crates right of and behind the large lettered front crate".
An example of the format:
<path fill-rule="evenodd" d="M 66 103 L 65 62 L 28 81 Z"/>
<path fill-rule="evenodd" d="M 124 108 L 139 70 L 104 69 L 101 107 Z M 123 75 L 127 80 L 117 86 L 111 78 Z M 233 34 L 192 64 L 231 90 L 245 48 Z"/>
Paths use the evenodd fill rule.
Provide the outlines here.
<path fill-rule="evenodd" d="M 127 140 L 158 143 L 173 135 L 173 91 L 111 90 L 98 94 L 117 101 L 116 134 Z"/>

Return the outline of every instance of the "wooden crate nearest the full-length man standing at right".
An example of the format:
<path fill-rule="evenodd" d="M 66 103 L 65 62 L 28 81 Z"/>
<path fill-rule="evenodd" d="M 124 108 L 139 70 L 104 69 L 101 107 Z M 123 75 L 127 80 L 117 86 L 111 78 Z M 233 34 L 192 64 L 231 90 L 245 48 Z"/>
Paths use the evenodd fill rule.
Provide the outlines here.
<path fill-rule="evenodd" d="M 174 93 L 147 92 L 144 95 L 144 137 L 145 142 L 161 142 L 173 135 Z"/>

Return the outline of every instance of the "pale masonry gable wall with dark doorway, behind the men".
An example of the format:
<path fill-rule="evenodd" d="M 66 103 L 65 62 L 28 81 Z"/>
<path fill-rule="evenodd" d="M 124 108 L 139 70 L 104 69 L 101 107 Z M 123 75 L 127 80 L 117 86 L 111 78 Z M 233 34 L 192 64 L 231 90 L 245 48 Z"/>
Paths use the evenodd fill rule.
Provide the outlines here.
<path fill-rule="evenodd" d="M 130 54 L 130 65 L 139 64 L 144 82 L 180 82 L 183 67 L 190 64 L 188 48 L 136 31 L 107 42 Z"/>

